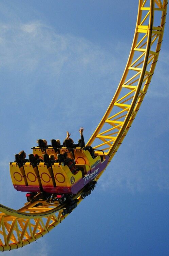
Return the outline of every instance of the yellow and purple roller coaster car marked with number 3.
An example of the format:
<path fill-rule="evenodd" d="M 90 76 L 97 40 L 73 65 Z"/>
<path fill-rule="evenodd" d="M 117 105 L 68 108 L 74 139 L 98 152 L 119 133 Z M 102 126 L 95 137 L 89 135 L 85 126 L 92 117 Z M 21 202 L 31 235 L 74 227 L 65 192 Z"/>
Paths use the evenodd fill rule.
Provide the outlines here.
<path fill-rule="evenodd" d="M 94 179 L 106 168 L 109 157 L 104 152 L 96 151 L 93 158 L 88 150 L 80 147 L 74 149 L 62 147 L 60 153 L 64 152 L 71 152 L 74 155 L 77 170 L 75 174 L 60 159 L 51 164 L 48 154 L 43 154 L 43 162 L 39 163 L 36 162 L 33 154 L 29 155 L 29 162 L 26 163 L 22 163 L 16 155 L 16 161 L 10 163 L 14 188 L 28 192 L 28 201 L 36 200 L 36 197 L 37 200 L 39 198 L 46 200 L 49 196 L 53 196 L 54 200 L 64 203 L 68 195 L 75 195 L 84 187 L 83 198 L 90 194 L 96 184 Z"/>

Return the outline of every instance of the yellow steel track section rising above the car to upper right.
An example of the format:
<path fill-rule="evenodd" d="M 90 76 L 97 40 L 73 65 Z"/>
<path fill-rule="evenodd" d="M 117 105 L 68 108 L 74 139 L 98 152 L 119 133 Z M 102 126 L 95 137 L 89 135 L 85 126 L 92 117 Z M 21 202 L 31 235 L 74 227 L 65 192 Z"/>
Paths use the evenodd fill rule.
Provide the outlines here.
<path fill-rule="evenodd" d="M 87 145 L 106 151 L 111 160 L 145 97 L 161 48 L 167 0 L 139 1 L 127 65 L 114 97 Z M 156 16 L 161 11 L 161 21 Z M 154 20 L 158 26 L 154 26 Z"/>

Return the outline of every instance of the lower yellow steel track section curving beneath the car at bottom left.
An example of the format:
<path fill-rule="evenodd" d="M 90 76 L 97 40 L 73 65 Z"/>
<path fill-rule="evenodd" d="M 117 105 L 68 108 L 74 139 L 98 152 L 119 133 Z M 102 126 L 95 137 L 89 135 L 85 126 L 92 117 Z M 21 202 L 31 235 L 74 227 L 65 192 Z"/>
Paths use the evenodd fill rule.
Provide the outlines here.
<path fill-rule="evenodd" d="M 79 191 L 74 197 L 82 200 Z M 38 207 L 35 207 L 40 203 Z M 65 219 L 62 215 L 64 205 L 36 201 L 26 204 L 18 211 L 0 204 L 0 251 L 10 251 L 30 244 L 49 233 Z"/>

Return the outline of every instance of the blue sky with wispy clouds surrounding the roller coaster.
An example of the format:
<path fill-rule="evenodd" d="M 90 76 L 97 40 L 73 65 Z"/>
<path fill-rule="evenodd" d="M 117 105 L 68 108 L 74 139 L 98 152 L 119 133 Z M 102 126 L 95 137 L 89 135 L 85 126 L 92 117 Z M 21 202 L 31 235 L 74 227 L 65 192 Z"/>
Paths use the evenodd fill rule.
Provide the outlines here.
<path fill-rule="evenodd" d="M 25 202 L 9 173 L 16 153 L 67 130 L 77 141 L 81 126 L 90 138 L 123 74 L 137 5 L 1 0 L 2 204 Z M 168 24 L 148 93 L 96 189 L 48 235 L 4 255 L 168 255 Z"/>

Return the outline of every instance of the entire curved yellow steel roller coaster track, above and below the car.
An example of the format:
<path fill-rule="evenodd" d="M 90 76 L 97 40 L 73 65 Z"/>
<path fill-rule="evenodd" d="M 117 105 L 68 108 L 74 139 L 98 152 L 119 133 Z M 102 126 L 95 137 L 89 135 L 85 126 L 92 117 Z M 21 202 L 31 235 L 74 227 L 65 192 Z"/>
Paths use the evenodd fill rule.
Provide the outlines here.
<path fill-rule="evenodd" d="M 104 150 L 110 161 L 131 127 L 151 82 L 163 41 L 166 12 L 167 0 L 139 0 L 125 71 L 105 115 L 87 143 L 95 150 Z M 82 200 L 81 193 L 82 190 L 74 196 L 79 199 L 78 203 Z M 0 251 L 23 247 L 44 236 L 67 216 L 62 215 L 64 206 L 39 200 L 16 211 L 0 205 Z"/>

